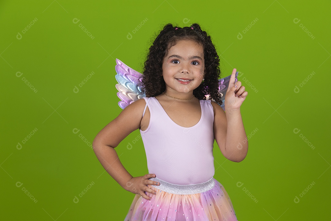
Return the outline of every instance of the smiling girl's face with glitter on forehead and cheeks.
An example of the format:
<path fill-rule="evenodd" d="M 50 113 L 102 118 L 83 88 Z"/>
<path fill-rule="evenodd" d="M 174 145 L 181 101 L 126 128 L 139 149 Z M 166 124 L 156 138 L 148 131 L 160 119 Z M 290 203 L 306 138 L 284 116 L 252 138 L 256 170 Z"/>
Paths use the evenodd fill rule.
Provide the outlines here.
<path fill-rule="evenodd" d="M 177 40 L 163 59 L 162 71 L 166 93 L 192 95 L 205 75 L 203 46 L 193 40 Z"/>

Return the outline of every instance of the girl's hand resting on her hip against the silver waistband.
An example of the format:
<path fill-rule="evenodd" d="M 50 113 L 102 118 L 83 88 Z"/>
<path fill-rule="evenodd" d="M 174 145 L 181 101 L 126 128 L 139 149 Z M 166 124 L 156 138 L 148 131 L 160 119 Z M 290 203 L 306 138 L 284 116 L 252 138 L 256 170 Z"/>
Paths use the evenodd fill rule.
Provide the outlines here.
<path fill-rule="evenodd" d="M 149 178 L 155 177 L 155 174 L 146 174 L 141 177 L 132 177 L 127 183 L 125 190 L 139 194 L 145 199 L 151 199 L 145 192 L 152 193 L 156 195 L 155 191 L 148 187 L 148 185 L 160 185 L 160 183 L 149 180 Z"/>

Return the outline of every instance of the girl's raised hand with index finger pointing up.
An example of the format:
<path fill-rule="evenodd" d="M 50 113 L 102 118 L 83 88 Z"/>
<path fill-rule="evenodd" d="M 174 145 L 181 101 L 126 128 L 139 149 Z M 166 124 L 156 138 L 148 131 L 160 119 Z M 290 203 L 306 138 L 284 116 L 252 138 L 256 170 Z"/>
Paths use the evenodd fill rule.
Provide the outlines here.
<path fill-rule="evenodd" d="M 236 75 L 237 69 L 233 69 L 230 81 L 229 81 L 229 87 L 225 94 L 225 111 L 237 111 L 240 110 L 241 104 L 244 102 L 248 92 L 245 91 L 245 87 L 241 86 L 241 82 L 237 81 L 235 83 L 235 75 Z"/>

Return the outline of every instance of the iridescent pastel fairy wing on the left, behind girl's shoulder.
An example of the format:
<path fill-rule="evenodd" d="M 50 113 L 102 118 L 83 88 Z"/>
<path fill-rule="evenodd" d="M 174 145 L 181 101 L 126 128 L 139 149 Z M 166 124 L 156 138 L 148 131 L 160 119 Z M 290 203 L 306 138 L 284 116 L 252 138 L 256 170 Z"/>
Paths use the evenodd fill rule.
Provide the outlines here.
<path fill-rule="evenodd" d="M 118 106 L 124 109 L 132 102 L 146 97 L 145 93 L 141 92 L 143 75 L 118 59 L 116 59 L 116 63 L 117 75 L 115 75 L 115 78 L 118 84 L 115 86 L 118 89 L 117 96 L 121 99 Z"/>

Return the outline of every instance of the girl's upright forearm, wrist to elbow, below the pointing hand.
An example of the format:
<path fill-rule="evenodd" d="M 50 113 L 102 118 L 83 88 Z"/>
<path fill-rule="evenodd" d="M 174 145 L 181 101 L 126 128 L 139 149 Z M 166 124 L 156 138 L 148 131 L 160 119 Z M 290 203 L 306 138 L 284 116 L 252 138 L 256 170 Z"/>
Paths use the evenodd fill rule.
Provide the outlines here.
<path fill-rule="evenodd" d="M 240 162 L 245 159 L 248 151 L 248 141 L 241 118 L 240 110 L 226 111 L 227 131 L 225 152 L 231 161 Z"/>

